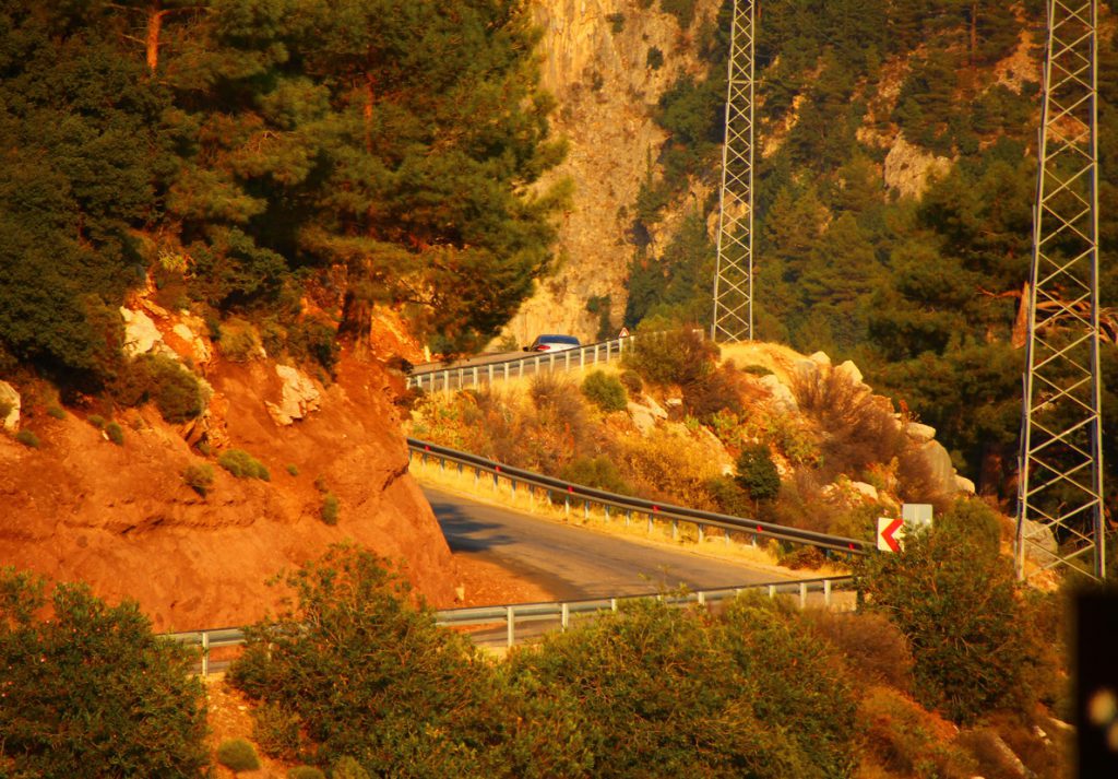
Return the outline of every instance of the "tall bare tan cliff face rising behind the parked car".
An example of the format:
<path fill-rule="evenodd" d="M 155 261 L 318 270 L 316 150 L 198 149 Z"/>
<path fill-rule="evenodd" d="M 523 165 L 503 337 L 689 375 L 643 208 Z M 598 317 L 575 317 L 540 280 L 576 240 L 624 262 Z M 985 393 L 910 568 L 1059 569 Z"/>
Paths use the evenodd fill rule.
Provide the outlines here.
<path fill-rule="evenodd" d="M 700 76 L 695 36 L 675 17 L 639 0 L 537 0 L 533 15 L 543 30 L 540 56 L 544 86 L 559 109 L 555 132 L 569 153 L 555 177 L 575 182 L 563 216 L 559 268 L 522 307 L 504 335 L 528 344 L 540 332 L 589 338 L 597 317 L 593 297 L 612 295 L 614 322 L 625 309 L 624 283 L 632 246 L 626 232 L 641 181 L 655 175 L 663 131 L 652 109 L 681 74 Z M 692 30 L 717 12 L 717 0 L 697 3 Z M 654 66 L 662 55 L 663 63 Z"/>

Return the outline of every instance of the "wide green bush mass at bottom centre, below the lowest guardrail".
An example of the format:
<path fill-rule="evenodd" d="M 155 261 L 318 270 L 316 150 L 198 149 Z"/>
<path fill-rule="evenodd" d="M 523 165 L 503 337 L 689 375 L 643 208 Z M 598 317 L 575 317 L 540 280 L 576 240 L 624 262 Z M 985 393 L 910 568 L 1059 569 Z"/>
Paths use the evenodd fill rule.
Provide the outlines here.
<path fill-rule="evenodd" d="M 634 603 L 509 664 L 522 694 L 574 713 L 567 749 L 596 776 L 841 777 L 856 762 L 850 687 L 798 617 L 768 602 L 719 619 Z M 823 705 L 827 717 L 811 715 Z"/>

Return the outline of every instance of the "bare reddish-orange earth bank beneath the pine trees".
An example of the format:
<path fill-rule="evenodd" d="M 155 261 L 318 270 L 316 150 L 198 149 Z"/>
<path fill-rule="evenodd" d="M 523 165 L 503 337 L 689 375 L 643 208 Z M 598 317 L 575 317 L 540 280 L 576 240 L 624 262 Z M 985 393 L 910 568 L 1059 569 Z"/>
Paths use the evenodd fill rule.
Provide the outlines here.
<path fill-rule="evenodd" d="M 149 348 L 197 340 L 179 344 L 182 322 L 153 319 L 161 339 Z M 151 406 L 116 417 L 117 445 L 80 407 L 57 419 L 25 395 L 21 423 L 41 443 L 0 435 L 0 565 L 86 581 L 111 601 L 138 600 L 157 630 L 187 630 L 275 611 L 280 593 L 266 579 L 351 539 L 405 561 L 430 602 L 453 603 L 449 550 L 408 473 L 391 402 L 399 379 L 344 357 L 328 386 L 276 368 L 265 358 L 206 366 L 202 424 L 219 442 L 208 458 L 188 443 L 197 424 L 170 425 Z M 235 478 L 217 466 L 218 445 L 247 451 L 271 479 Z M 212 468 L 205 496 L 183 479 L 190 466 Z M 322 519 L 328 491 L 340 506 L 332 526 Z"/>

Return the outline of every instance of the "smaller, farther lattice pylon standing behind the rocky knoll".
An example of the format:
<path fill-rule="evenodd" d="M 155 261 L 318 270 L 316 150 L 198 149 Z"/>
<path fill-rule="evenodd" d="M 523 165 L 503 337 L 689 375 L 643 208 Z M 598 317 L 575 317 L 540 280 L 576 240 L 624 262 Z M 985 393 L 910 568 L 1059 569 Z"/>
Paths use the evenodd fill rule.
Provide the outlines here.
<path fill-rule="evenodd" d="M 713 340 L 754 337 L 754 11 L 733 1 L 714 268 Z"/>

